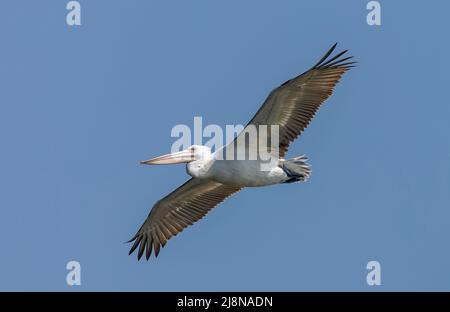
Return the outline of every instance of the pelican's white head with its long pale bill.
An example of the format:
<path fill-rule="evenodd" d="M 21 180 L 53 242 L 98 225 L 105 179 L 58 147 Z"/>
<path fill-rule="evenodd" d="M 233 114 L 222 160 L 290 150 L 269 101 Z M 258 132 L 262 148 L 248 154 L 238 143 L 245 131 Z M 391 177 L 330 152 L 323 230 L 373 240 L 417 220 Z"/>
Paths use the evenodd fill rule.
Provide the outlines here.
<path fill-rule="evenodd" d="M 211 155 L 211 149 L 203 145 L 191 145 L 180 152 L 170 153 L 141 161 L 145 165 L 169 165 L 179 163 L 190 163 L 196 160 L 204 160 Z"/>

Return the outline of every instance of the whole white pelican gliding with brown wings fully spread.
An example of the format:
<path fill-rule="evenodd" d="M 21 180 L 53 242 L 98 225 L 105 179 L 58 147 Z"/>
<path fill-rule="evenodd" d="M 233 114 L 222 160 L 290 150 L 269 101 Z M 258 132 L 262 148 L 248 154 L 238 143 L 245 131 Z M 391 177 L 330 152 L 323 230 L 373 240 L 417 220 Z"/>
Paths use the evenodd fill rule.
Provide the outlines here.
<path fill-rule="evenodd" d="M 278 126 L 278 146 L 268 147 L 268 150 L 276 149 L 278 157 L 268 170 L 261 170 L 260 158 L 223 159 L 218 156 L 218 151 L 212 153 L 210 148 L 200 145 L 141 161 L 147 165 L 186 163 L 187 172 L 192 178 L 156 202 L 144 224 L 129 241 L 134 241 L 129 254 L 139 247 L 138 260 L 144 252 L 148 260 L 152 250 L 157 257 L 160 248 L 172 236 L 244 187 L 303 182 L 308 179 L 311 170 L 304 155 L 288 160 L 283 157 L 289 144 L 303 132 L 320 105 L 333 93 L 342 75 L 356 63 L 348 61 L 352 56 L 343 57 L 348 50 L 330 57 L 336 45 L 311 69 L 275 88 L 239 136 L 218 150 L 223 153 L 224 150 L 239 149 L 242 143 L 238 142 L 246 142 L 239 138 L 251 125 Z M 244 149 L 254 148 L 249 147 L 248 143 L 244 144 Z"/>

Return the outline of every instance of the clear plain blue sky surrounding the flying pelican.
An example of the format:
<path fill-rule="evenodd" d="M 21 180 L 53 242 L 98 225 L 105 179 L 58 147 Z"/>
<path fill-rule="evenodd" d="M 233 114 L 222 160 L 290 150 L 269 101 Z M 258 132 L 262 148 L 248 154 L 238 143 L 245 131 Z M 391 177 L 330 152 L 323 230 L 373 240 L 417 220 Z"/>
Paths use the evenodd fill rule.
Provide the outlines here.
<path fill-rule="evenodd" d="M 446 1 L 2 1 L 0 290 L 450 290 Z M 176 124 L 242 124 L 334 43 L 360 62 L 288 156 L 149 262 L 124 244 L 183 166 Z M 81 263 L 82 285 L 66 284 Z M 366 283 L 379 261 L 382 286 Z"/>

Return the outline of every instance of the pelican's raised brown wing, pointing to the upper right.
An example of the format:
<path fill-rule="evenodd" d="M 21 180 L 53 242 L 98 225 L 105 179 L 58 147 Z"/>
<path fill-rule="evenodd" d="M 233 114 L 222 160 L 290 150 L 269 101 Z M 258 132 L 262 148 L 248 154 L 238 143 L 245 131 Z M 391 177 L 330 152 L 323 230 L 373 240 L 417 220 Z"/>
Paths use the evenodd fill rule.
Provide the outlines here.
<path fill-rule="evenodd" d="M 308 126 L 320 105 L 333 93 L 341 76 L 355 63 L 348 62 L 352 56 L 344 57 L 347 50 L 330 57 L 336 45 L 310 70 L 274 89 L 246 126 L 254 125 L 258 129 L 259 125 L 278 125 L 280 158 L 286 154 L 289 144 Z M 240 135 L 245 135 L 244 132 L 245 129 Z"/>

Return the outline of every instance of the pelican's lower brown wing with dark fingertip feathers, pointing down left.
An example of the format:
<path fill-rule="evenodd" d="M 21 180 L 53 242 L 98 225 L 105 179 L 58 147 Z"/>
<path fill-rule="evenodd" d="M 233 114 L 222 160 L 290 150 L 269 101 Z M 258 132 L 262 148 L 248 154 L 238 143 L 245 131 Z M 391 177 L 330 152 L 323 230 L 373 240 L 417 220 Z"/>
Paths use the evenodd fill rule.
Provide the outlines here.
<path fill-rule="evenodd" d="M 239 190 L 214 181 L 190 179 L 153 206 L 144 224 L 129 241 L 134 241 L 130 254 L 139 246 L 138 259 L 145 251 L 148 260 L 152 249 L 157 257 L 160 247 L 164 247 L 172 236 Z"/>

